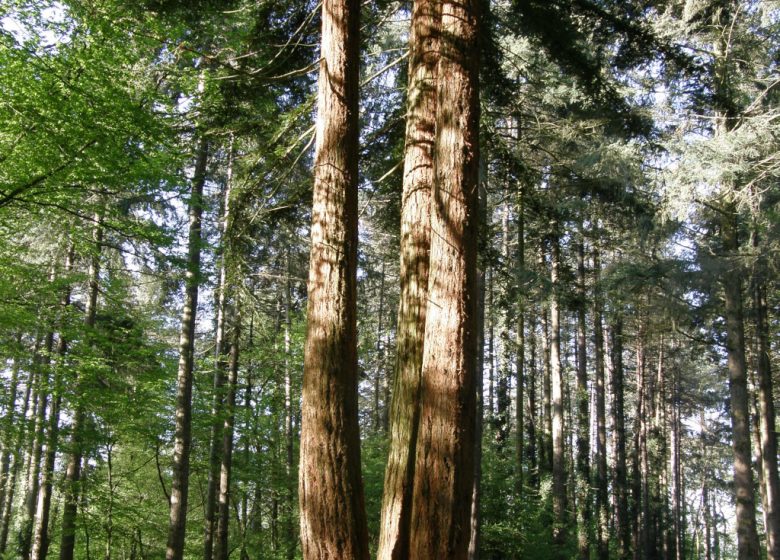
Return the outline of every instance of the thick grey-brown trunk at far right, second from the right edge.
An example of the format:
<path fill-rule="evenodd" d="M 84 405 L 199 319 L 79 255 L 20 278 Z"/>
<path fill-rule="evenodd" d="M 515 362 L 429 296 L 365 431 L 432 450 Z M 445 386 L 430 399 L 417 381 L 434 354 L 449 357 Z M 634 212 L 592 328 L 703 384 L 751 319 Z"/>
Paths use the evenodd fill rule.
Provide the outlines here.
<path fill-rule="evenodd" d="M 736 208 L 730 206 L 721 224 L 724 255 L 731 267 L 722 277 L 726 350 L 728 353 L 732 446 L 734 449 L 734 490 L 737 501 L 737 558 L 759 557 L 756 530 L 755 484 L 750 453 L 750 408 L 745 363 L 745 331 L 742 320 L 742 281 L 738 263 Z M 736 269 L 735 269 L 736 267 Z"/>

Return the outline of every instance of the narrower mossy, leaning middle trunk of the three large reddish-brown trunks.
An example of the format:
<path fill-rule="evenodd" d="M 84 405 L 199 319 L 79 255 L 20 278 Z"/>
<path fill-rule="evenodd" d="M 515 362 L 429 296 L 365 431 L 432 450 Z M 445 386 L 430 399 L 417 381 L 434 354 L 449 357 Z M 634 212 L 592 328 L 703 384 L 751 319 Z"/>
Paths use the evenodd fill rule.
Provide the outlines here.
<path fill-rule="evenodd" d="M 401 208 L 401 293 L 397 362 L 390 405 L 390 452 L 385 470 L 378 560 L 409 557 L 414 450 L 417 445 L 434 182 L 436 66 L 441 5 L 417 0 L 409 40 L 409 94 Z"/>

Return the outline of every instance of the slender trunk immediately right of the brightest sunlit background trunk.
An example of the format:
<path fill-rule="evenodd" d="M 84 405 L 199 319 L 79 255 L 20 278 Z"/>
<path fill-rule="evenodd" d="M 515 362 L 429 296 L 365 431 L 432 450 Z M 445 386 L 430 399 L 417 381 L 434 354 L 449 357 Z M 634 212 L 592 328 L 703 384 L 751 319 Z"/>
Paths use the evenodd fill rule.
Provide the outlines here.
<path fill-rule="evenodd" d="M 588 417 L 588 341 L 585 332 L 587 296 L 585 243 L 582 239 L 577 247 L 577 284 L 577 550 L 581 560 L 590 560 L 590 419 Z"/>

